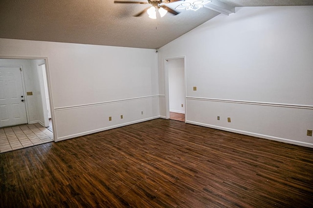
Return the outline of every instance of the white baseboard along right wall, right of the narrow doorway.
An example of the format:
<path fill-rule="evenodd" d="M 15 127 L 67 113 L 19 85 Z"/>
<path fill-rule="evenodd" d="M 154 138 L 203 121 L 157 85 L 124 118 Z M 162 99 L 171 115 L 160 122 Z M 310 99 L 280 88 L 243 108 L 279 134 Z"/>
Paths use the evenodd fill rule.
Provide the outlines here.
<path fill-rule="evenodd" d="M 217 126 L 217 125 L 208 125 L 208 124 L 203 124 L 203 123 L 193 122 L 193 121 L 186 121 L 186 123 L 187 124 L 193 124 L 193 125 L 201 125 L 201 126 L 205 126 L 205 127 L 209 127 L 209 128 L 215 128 L 215 129 L 219 129 L 219 130 L 234 132 L 234 133 L 238 133 L 238 134 L 244 134 L 244 135 L 253 136 L 253 137 L 259 137 L 259 138 L 263 138 L 263 139 L 274 140 L 274 141 L 288 143 L 288 144 L 292 144 L 292 145 L 307 146 L 307 147 L 313 148 L 313 144 L 311 144 L 311 143 L 299 142 L 299 141 L 294 141 L 294 140 L 290 140 L 290 139 L 273 137 L 273 136 L 268 136 L 268 135 L 264 135 L 264 134 L 257 134 L 257 133 L 253 133 L 253 132 L 249 132 L 249 131 L 242 131 L 242 130 L 237 130 L 237 129 L 232 129 L 232 128 L 225 128 L 225 127 Z"/>

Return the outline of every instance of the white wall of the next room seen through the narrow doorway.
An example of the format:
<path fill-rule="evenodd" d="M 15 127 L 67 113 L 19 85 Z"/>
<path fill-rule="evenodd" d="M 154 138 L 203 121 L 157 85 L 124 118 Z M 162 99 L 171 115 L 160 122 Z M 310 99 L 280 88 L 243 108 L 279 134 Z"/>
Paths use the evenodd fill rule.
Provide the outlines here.
<path fill-rule="evenodd" d="M 168 79 L 170 111 L 185 113 L 184 59 L 168 60 Z"/>

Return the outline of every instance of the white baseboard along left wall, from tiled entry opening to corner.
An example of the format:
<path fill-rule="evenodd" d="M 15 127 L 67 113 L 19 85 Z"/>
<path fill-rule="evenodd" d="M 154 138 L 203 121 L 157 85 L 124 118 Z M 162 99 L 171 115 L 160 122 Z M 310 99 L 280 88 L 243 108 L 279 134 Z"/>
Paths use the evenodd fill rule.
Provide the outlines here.
<path fill-rule="evenodd" d="M 94 130 L 91 130 L 91 131 L 85 131 L 85 132 L 81 132 L 81 133 L 78 133 L 78 134 L 72 134 L 72 135 L 67 135 L 67 136 L 63 136 L 63 137 L 58 137 L 58 138 L 56 138 L 56 142 L 59 142 L 59 141 L 62 141 L 62 140 L 67 140 L 67 139 L 72 139 L 72 138 L 75 138 L 75 137 L 85 136 L 85 135 L 88 135 L 88 134 L 93 134 L 93 133 L 97 133 L 97 132 L 100 132 L 100 131 L 105 131 L 105 130 L 109 130 L 109 129 L 113 129 L 113 128 L 118 128 L 118 127 L 122 127 L 122 126 L 125 126 L 125 125 L 132 125 L 132 124 L 137 124 L 137 123 L 141 123 L 141 122 L 145 122 L 145 121 L 150 121 L 150 120 L 158 119 L 158 118 L 160 118 L 160 116 L 155 116 L 155 117 L 151 117 L 151 118 L 141 119 L 141 120 L 128 122 L 128 123 L 123 123 L 123 124 L 119 124 L 119 125 L 107 126 L 107 127 L 104 127 L 104 128 L 94 129 Z"/>

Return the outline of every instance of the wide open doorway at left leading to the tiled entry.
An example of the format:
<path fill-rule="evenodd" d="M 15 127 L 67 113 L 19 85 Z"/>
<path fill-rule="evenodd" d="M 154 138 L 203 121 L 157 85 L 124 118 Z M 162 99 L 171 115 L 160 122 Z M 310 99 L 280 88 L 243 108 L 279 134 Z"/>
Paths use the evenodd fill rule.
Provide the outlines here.
<path fill-rule="evenodd" d="M 5 78 L 0 83 L 8 85 L 9 89 L 2 94 L 8 98 L 7 103 L 16 99 L 14 105 L 5 106 L 1 104 L 3 107 L 0 107 L 0 134 L 6 135 L 6 138 L 2 138 L 3 141 L 0 145 L 1 153 L 55 141 L 52 122 L 49 123 L 48 121 L 48 112 L 51 110 L 48 105 L 50 99 L 47 100 L 49 95 L 48 84 L 45 88 L 45 83 L 47 83 L 45 66 L 45 59 L 0 58 L 0 68 L 8 74 L 8 79 Z M 3 73 L 1 74 L 3 75 Z M 21 81 L 17 77 L 21 77 Z M 12 82 L 13 78 L 14 82 Z M 20 109 L 24 109 L 24 111 L 20 111 Z M 5 117 L 15 120 L 18 117 L 25 117 L 26 119 L 19 123 L 6 124 L 4 122 Z M 46 127 L 50 127 L 51 130 Z"/>

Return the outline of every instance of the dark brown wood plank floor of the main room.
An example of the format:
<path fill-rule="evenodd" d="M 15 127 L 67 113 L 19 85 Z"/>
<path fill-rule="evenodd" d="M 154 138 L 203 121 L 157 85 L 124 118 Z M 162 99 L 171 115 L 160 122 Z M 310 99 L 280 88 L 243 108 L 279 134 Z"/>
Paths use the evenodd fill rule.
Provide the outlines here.
<path fill-rule="evenodd" d="M 0 154 L 0 207 L 312 207 L 313 149 L 156 119 Z"/>

